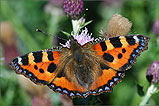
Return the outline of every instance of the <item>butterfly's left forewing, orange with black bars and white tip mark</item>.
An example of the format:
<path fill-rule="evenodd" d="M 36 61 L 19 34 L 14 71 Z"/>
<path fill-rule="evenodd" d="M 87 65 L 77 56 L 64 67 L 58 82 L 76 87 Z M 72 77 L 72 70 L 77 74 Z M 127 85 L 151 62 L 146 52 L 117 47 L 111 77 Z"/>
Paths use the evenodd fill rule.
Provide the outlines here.
<path fill-rule="evenodd" d="M 48 84 L 55 76 L 59 57 L 58 51 L 41 50 L 13 59 L 10 66 L 17 74 L 23 74 L 36 84 Z"/>

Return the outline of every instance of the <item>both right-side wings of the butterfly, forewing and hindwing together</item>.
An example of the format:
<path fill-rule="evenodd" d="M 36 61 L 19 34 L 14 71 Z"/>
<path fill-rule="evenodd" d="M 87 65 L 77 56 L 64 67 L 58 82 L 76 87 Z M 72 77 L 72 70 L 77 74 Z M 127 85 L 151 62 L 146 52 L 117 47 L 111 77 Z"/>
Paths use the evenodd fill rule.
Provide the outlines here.
<path fill-rule="evenodd" d="M 94 51 L 105 60 L 102 75 L 92 83 L 91 94 L 111 92 L 122 81 L 124 71 L 129 69 L 140 53 L 147 49 L 149 38 L 142 35 L 119 36 L 97 43 Z"/>

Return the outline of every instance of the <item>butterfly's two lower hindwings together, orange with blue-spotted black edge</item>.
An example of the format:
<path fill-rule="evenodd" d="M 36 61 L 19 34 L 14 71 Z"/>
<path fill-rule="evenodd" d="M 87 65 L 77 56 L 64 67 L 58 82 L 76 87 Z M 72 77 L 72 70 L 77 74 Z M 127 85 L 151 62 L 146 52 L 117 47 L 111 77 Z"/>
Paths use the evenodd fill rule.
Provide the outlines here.
<path fill-rule="evenodd" d="M 90 90 L 80 85 L 69 82 L 65 77 L 56 78 L 48 87 L 55 92 L 60 92 L 70 98 L 84 97 L 88 95 L 99 95 L 103 92 L 112 92 L 112 88 L 125 76 L 124 72 L 117 72 L 113 69 L 103 69 L 103 74 L 92 83 Z"/>

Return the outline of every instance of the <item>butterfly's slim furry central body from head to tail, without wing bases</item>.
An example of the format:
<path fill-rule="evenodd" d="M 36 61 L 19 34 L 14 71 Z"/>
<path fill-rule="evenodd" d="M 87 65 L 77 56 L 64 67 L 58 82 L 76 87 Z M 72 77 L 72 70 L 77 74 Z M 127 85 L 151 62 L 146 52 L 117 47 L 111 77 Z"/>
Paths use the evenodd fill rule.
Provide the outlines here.
<path fill-rule="evenodd" d="M 94 61 L 91 61 L 90 53 L 87 52 L 88 46 L 82 47 L 76 39 L 71 37 L 71 57 L 74 61 L 72 61 L 72 65 L 74 65 L 74 73 L 77 82 L 79 85 L 85 87 L 86 89 L 90 88 L 90 85 L 97 78 L 97 75 L 93 72 L 93 64 Z M 96 69 L 97 70 L 97 69 Z"/>

